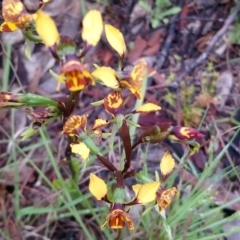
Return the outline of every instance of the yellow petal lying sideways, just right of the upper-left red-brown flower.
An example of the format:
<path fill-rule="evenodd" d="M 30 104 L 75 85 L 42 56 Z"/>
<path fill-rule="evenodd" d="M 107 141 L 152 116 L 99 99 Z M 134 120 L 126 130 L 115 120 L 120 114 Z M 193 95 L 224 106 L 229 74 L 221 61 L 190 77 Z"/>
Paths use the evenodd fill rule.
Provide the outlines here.
<path fill-rule="evenodd" d="M 92 72 L 93 77 L 99 79 L 105 86 L 116 89 L 119 87 L 117 73 L 110 67 L 99 67 Z"/>

